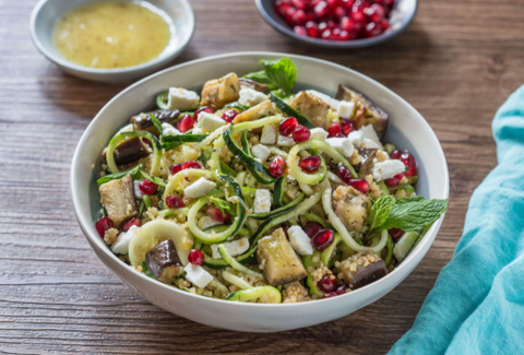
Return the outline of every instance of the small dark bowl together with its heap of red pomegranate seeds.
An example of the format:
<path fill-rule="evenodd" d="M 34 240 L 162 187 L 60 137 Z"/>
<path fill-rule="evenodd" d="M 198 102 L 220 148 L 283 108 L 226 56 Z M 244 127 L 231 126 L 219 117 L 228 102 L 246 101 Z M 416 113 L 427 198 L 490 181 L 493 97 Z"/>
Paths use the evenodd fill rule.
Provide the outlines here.
<path fill-rule="evenodd" d="M 400 35 L 417 0 L 255 0 L 275 29 L 320 47 L 359 48 Z"/>

